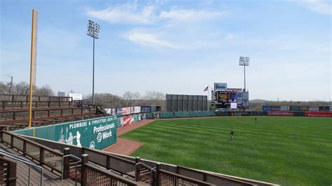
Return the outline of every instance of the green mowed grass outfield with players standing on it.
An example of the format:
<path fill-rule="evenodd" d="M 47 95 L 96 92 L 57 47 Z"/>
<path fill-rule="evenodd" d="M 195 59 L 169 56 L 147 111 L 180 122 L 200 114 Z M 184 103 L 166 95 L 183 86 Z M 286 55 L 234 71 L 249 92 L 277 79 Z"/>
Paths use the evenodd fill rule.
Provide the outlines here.
<path fill-rule="evenodd" d="M 234 141 L 229 141 L 234 130 Z M 332 184 L 332 119 L 210 117 L 159 120 L 122 138 L 132 156 L 281 185 Z"/>

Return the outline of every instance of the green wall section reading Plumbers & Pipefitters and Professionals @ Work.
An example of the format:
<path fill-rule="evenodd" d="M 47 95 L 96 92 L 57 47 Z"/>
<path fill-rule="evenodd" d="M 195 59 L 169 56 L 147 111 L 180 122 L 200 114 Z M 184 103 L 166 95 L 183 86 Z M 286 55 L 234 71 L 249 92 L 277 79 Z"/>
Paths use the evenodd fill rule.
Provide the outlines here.
<path fill-rule="evenodd" d="M 102 150 L 116 143 L 117 127 L 117 117 L 107 116 L 33 129 L 22 129 L 13 131 L 13 133 Z"/>

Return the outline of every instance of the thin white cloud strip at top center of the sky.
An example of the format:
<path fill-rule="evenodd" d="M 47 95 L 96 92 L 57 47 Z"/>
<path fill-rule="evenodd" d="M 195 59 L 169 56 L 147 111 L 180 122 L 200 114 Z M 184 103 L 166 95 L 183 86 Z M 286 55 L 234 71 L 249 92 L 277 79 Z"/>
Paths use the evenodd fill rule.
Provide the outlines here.
<path fill-rule="evenodd" d="M 171 20 L 194 22 L 198 20 L 222 17 L 225 14 L 226 12 L 212 12 L 207 10 L 172 9 L 170 11 L 162 11 L 159 17 Z"/>

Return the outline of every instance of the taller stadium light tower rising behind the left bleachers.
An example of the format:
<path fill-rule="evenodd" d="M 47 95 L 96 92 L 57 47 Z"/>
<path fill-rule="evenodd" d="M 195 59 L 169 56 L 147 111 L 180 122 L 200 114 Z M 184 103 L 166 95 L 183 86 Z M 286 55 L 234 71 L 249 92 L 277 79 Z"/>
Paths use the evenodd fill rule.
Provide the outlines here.
<path fill-rule="evenodd" d="M 92 104 L 95 105 L 95 39 L 99 38 L 100 24 L 89 20 L 87 35 L 93 38 L 93 69 L 92 69 Z"/>

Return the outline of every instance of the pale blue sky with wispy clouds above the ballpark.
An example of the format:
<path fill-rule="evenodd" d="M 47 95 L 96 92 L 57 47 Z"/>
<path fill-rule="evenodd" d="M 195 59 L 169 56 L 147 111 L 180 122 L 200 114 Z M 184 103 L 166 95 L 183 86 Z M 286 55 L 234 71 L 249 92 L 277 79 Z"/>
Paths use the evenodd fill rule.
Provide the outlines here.
<path fill-rule="evenodd" d="M 1 0 L 0 82 L 29 81 L 39 12 L 36 85 L 92 92 L 88 20 L 101 24 L 95 92 L 206 94 L 214 82 L 250 99 L 331 100 L 331 1 Z"/>

